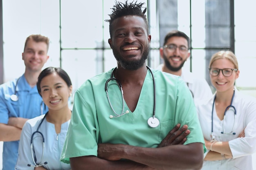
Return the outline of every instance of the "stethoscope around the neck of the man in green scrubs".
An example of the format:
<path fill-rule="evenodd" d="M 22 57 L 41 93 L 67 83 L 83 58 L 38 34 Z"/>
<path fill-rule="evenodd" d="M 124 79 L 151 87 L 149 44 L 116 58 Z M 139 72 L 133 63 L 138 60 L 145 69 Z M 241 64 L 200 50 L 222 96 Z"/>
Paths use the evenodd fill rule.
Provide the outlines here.
<path fill-rule="evenodd" d="M 154 86 L 153 117 L 150 117 L 150 118 L 148 119 L 148 125 L 149 125 L 149 126 L 152 125 L 151 127 L 156 127 L 156 126 L 158 126 L 158 124 L 159 124 L 159 120 L 155 117 L 155 108 L 156 108 L 155 77 L 154 77 L 153 72 L 151 71 L 151 69 L 150 69 L 148 66 L 146 66 L 146 67 L 147 67 L 147 69 L 150 71 L 150 73 L 151 73 L 151 75 L 152 75 L 152 78 L 153 78 L 153 86 Z M 116 68 L 114 68 L 114 69 L 112 70 L 110 78 L 106 81 L 106 84 L 105 84 L 105 91 L 106 91 L 107 97 L 108 97 L 108 88 L 107 88 L 108 82 L 109 82 L 110 80 L 116 80 L 116 81 L 117 81 L 117 85 L 119 86 L 119 89 L 121 90 L 122 97 L 123 97 L 123 111 L 122 111 L 122 114 L 121 114 L 121 115 L 124 115 L 124 114 L 125 114 L 125 113 L 123 113 L 123 112 L 124 112 L 124 95 L 123 95 L 123 90 L 122 90 L 121 82 L 119 81 L 119 79 L 117 79 L 117 78 L 114 77 L 114 71 L 115 71 L 115 69 L 116 69 Z M 108 97 L 108 102 L 109 102 L 109 104 L 110 104 L 109 97 Z M 112 105 L 111 105 L 111 104 L 110 104 L 110 107 L 112 108 Z M 114 110 L 113 108 L 112 108 L 112 110 L 113 110 L 113 112 L 115 113 L 115 110 Z M 115 114 L 116 114 L 116 113 L 115 113 Z M 117 114 L 116 114 L 116 115 L 117 115 Z M 119 117 L 119 116 L 121 116 L 121 115 L 117 115 L 116 117 Z M 151 125 L 150 125 L 150 124 L 151 124 Z"/>

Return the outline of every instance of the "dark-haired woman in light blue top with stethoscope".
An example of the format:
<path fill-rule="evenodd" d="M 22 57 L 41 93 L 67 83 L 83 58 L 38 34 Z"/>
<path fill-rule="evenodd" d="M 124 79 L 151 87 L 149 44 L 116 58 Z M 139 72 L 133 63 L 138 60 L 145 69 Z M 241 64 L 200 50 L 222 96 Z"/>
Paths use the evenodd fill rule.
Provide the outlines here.
<path fill-rule="evenodd" d="M 61 68 L 48 67 L 36 85 L 49 111 L 29 119 L 22 128 L 16 170 L 70 170 L 70 164 L 60 161 L 71 118 L 70 77 Z"/>

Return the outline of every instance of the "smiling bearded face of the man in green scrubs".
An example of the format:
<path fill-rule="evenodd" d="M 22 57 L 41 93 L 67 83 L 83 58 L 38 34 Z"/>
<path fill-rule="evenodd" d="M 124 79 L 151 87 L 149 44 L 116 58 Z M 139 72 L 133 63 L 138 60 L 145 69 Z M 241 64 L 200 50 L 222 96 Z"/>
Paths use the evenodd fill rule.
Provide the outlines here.
<path fill-rule="evenodd" d="M 143 18 L 126 15 L 112 23 L 112 38 L 108 40 L 119 67 L 137 70 L 148 58 L 151 36 Z"/>

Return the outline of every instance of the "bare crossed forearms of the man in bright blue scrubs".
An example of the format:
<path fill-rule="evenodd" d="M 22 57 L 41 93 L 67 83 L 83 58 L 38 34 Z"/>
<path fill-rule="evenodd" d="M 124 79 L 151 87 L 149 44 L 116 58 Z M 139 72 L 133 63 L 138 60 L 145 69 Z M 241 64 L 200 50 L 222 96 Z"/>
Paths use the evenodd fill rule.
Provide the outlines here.
<path fill-rule="evenodd" d="M 10 117 L 8 124 L 0 123 L 0 141 L 18 141 L 26 121 L 26 118 Z"/>

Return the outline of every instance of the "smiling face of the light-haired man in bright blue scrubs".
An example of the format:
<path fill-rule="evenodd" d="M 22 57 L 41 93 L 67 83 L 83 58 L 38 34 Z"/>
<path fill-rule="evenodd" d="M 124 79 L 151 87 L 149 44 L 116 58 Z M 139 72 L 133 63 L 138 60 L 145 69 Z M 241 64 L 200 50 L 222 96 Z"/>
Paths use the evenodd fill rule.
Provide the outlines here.
<path fill-rule="evenodd" d="M 26 71 L 41 71 L 48 58 L 47 44 L 45 42 L 28 40 L 24 52 L 22 53 L 22 60 L 24 60 Z"/>

